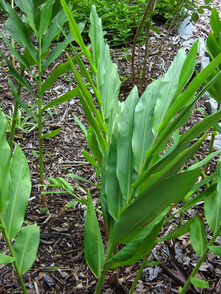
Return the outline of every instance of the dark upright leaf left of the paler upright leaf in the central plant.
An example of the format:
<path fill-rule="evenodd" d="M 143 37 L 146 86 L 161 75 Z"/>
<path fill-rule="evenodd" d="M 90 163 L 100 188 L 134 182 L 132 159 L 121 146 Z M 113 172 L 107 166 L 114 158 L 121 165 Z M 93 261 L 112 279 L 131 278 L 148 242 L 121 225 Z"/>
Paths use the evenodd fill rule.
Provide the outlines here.
<path fill-rule="evenodd" d="M 113 133 L 111 136 L 111 144 L 106 163 L 106 181 L 105 191 L 107 194 L 108 211 L 111 217 L 117 221 L 120 209 L 126 204 L 126 200 L 122 197 L 119 181 L 116 175 L 117 164 L 117 137 L 119 132 L 118 117 L 116 117 Z"/>

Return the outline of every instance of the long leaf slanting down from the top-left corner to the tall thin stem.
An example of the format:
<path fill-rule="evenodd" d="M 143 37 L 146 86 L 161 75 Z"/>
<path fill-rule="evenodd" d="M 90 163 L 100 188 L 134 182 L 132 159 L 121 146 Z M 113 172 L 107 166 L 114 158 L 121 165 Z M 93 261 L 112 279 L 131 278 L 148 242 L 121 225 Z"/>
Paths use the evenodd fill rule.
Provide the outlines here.
<path fill-rule="evenodd" d="M 22 20 L 19 18 L 19 16 L 15 12 L 15 10 L 8 3 L 7 3 L 7 8 L 8 8 L 8 13 L 9 13 L 10 19 L 11 19 L 12 23 L 15 25 L 15 27 L 17 28 L 19 37 L 21 38 L 22 42 L 25 44 L 25 46 L 30 51 L 30 54 L 33 57 L 33 59 L 35 60 L 36 64 L 39 64 L 37 50 L 35 49 L 34 45 L 31 43 L 26 26 L 23 24 Z"/>

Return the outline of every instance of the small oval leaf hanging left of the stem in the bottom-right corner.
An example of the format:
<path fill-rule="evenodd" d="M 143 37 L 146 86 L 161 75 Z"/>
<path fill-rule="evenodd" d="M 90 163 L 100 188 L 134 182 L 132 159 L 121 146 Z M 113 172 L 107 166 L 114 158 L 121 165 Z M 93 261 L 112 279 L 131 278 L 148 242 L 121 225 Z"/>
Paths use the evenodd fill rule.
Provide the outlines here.
<path fill-rule="evenodd" d="M 195 252 L 201 256 L 208 245 L 206 229 L 202 219 L 194 217 L 190 226 L 190 242 Z"/>

